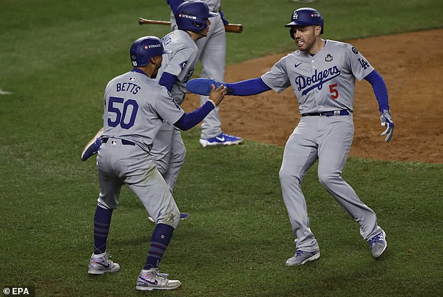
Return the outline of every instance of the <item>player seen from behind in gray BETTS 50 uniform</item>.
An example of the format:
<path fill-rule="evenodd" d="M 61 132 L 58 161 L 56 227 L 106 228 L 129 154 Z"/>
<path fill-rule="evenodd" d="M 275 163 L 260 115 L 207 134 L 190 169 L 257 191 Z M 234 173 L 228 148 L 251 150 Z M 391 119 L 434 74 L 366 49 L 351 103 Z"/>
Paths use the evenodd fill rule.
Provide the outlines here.
<path fill-rule="evenodd" d="M 167 54 L 160 39 L 138 38 L 131 45 L 133 69 L 108 82 L 104 95 L 103 135 L 97 157 L 100 195 L 94 215 L 94 253 L 88 273 L 101 275 L 119 270 L 106 251 L 112 211 L 117 208 L 123 184 L 133 190 L 156 220 L 145 266 L 136 289 L 177 289 L 178 280 L 159 273 L 159 262 L 177 228 L 180 212 L 164 178 L 150 157 L 152 143 L 163 121 L 190 129 L 223 100 L 226 88 L 213 88 L 210 99 L 198 110 L 184 113 L 168 89 L 154 78 Z"/>

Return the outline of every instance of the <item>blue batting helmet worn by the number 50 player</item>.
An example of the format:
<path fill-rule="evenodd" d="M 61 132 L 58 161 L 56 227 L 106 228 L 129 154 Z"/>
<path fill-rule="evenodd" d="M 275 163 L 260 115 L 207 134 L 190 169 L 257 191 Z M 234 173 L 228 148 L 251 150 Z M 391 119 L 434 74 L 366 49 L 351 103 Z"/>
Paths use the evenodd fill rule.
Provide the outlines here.
<path fill-rule="evenodd" d="M 144 36 L 138 38 L 131 45 L 129 56 L 131 57 L 132 66 L 146 66 L 152 57 L 161 56 L 170 52 L 165 50 L 163 43 L 155 36 Z"/>

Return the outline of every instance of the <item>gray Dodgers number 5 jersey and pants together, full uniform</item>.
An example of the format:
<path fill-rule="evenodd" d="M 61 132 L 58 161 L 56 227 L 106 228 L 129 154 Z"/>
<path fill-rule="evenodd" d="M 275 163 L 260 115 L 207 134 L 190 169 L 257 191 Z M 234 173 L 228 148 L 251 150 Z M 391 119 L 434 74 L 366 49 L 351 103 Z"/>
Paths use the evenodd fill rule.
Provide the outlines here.
<path fill-rule="evenodd" d="M 318 159 L 320 183 L 360 224 L 365 240 L 381 231 L 375 212 L 368 208 L 342 178 L 342 169 L 354 137 L 355 79 L 374 68 L 352 45 L 326 41 L 316 55 L 296 51 L 280 59 L 261 78 L 277 92 L 292 86 L 300 113 L 305 116 L 284 147 L 280 184 L 297 249 L 319 250 L 310 229 L 301 181 Z M 306 115 L 333 111 L 333 116 Z M 344 113 L 342 113 L 344 112 Z"/>

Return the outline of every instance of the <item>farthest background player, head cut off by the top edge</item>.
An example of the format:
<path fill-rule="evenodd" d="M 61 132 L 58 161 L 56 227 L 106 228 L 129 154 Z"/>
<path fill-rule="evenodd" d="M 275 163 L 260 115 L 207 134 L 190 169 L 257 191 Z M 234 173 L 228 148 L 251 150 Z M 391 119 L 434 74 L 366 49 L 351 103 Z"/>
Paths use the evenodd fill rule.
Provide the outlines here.
<path fill-rule="evenodd" d="M 171 28 L 177 29 L 175 16 L 176 9 L 184 1 L 193 0 L 166 0 L 172 10 L 170 15 Z M 225 19 L 220 0 L 203 0 L 208 3 L 210 10 L 215 13 L 214 17 L 210 17 L 211 29 L 206 38 L 196 41 L 198 53 L 202 65 L 201 77 L 211 78 L 217 81 L 224 80 L 224 70 L 226 63 L 226 31 L 224 25 L 228 24 Z M 180 29 L 180 27 L 178 28 Z M 201 96 L 201 104 L 203 105 L 208 96 Z M 222 131 L 222 122 L 219 117 L 219 108 L 216 108 L 208 117 L 203 119 L 201 125 L 200 143 L 203 147 L 207 145 L 238 145 L 243 139 L 237 136 L 227 135 Z"/>

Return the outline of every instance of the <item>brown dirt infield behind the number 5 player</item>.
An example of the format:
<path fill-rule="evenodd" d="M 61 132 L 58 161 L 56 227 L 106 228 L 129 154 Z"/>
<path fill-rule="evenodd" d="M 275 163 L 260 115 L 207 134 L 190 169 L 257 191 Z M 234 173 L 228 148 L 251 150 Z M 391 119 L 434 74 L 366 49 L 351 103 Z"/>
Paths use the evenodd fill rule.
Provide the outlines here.
<path fill-rule="evenodd" d="M 380 136 L 377 99 L 368 82 L 356 82 L 355 135 L 350 156 L 443 164 L 443 29 L 346 41 L 383 76 L 395 123 L 391 143 Z M 295 45 L 294 45 L 294 48 Z M 226 68 L 225 81 L 257 78 L 286 54 L 272 55 Z M 198 106 L 189 94 L 184 110 Z M 300 115 L 291 88 L 257 96 L 229 96 L 220 110 L 226 133 L 263 143 L 284 145 Z"/>

